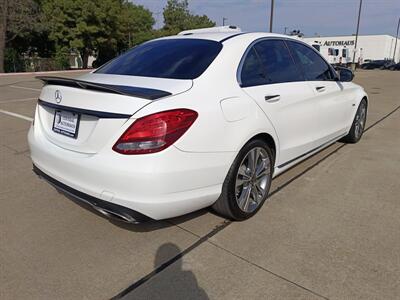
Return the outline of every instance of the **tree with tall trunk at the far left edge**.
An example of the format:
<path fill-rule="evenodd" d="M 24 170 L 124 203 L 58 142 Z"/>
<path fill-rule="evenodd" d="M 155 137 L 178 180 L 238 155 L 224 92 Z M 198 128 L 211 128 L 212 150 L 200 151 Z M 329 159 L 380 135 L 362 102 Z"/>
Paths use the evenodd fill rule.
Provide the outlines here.
<path fill-rule="evenodd" d="M 0 0 L 0 73 L 4 72 L 7 42 L 32 30 L 38 16 L 38 5 L 33 0 Z"/>

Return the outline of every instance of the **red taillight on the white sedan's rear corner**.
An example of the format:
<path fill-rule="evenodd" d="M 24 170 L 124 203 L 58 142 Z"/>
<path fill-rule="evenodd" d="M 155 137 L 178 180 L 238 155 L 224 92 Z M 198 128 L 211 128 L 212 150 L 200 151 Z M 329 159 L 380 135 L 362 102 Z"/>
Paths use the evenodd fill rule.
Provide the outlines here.
<path fill-rule="evenodd" d="M 196 120 L 197 112 L 174 109 L 137 119 L 115 143 L 122 154 L 145 154 L 164 150 L 178 140 Z"/>

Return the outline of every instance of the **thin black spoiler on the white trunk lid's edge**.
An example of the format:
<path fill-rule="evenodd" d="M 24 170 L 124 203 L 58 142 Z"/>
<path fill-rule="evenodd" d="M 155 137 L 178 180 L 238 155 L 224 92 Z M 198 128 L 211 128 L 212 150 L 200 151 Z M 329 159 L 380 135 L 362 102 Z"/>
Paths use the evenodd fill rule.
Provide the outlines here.
<path fill-rule="evenodd" d="M 103 84 L 65 77 L 37 76 L 36 78 L 43 81 L 44 84 L 63 85 L 85 90 L 101 91 L 105 93 L 113 93 L 125 96 L 134 96 L 148 100 L 156 100 L 172 95 L 171 93 L 162 90 L 135 86 Z"/>

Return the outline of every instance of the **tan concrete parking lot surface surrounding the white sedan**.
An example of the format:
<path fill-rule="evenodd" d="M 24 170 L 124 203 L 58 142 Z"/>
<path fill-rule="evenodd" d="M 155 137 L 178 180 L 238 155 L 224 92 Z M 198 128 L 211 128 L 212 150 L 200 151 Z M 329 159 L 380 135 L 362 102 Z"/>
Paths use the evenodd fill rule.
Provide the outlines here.
<path fill-rule="evenodd" d="M 399 299 L 400 72 L 355 81 L 370 96 L 362 140 L 276 178 L 254 218 L 125 225 L 33 174 L 41 83 L 0 76 L 0 298 Z"/>

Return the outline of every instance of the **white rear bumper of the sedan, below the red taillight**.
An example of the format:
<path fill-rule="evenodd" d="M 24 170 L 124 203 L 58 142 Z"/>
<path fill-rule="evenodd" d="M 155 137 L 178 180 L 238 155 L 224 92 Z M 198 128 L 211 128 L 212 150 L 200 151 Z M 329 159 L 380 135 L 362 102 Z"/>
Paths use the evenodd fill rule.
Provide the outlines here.
<path fill-rule="evenodd" d="M 148 155 L 121 155 L 112 145 L 96 154 L 78 153 L 50 142 L 36 124 L 28 142 L 41 177 L 96 209 L 127 208 L 123 212 L 137 221 L 171 218 L 212 205 L 236 156 L 188 153 L 173 146 Z"/>

